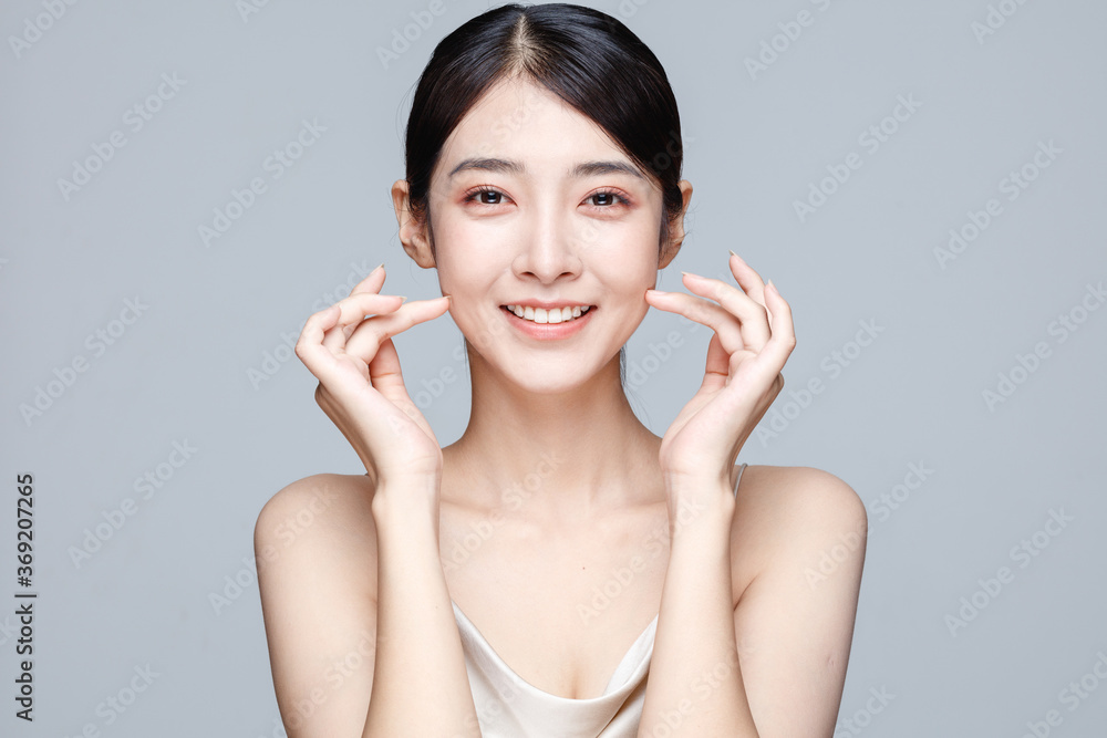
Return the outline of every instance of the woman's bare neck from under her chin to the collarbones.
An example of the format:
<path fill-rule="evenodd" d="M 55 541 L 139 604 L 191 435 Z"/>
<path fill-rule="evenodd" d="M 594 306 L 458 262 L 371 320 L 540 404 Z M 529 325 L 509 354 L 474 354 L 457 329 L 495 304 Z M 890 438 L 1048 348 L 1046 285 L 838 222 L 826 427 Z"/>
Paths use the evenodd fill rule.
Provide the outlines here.
<path fill-rule="evenodd" d="M 658 501 L 661 439 L 635 417 L 614 356 L 570 392 L 535 394 L 469 353 L 473 409 L 443 449 L 451 497 L 511 517 L 566 520 Z"/>

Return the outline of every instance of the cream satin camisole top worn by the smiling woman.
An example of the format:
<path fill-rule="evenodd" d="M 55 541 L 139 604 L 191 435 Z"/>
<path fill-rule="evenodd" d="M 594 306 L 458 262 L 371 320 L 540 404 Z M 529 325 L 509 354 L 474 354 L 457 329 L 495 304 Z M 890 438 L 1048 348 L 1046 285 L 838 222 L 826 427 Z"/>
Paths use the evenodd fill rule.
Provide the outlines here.
<path fill-rule="evenodd" d="M 746 465 L 738 469 L 738 481 Z M 544 692 L 515 673 L 451 600 L 465 669 L 484 738 L 635 738 L 653 656 L 658 615 L 619 662 L 599 697 L 571 699 Z"/>

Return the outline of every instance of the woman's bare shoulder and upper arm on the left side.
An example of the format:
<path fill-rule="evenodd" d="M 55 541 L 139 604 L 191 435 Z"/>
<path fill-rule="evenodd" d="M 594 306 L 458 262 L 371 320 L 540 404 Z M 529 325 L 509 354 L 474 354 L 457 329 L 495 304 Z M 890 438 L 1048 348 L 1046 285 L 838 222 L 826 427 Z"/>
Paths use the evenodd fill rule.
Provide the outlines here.
<path fill-rule="evenodd" d="M 376 646 L 368 477 L 322 474 L 266 502 L 254 530 L 273 687 L 289 736 L 364 724 Z M 302 705 L 313 705 L 301 714 Z M 360 721 L 359 721 L 360 720 Z"/>

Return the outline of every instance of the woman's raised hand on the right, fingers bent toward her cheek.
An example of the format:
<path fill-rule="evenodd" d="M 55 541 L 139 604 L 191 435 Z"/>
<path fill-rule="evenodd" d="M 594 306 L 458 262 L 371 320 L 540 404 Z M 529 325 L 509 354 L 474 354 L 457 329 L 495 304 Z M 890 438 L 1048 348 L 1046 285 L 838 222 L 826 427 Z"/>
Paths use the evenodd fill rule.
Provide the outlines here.
<path fill-rule="evenodd" d="M 661 440 L 661 470 L 671 496 L 700 498 L 713 488 L 730 493 L 738 451 L 780 394 L 780 371 L 796 346 L 792 308 L 772 281 L 766 285 L 736 254 L 730 268 L 741 290 L 685 273 L 684 285 L 700 298 L 645 291 L 653 308 L 715 332 L 703 384 Z"/>

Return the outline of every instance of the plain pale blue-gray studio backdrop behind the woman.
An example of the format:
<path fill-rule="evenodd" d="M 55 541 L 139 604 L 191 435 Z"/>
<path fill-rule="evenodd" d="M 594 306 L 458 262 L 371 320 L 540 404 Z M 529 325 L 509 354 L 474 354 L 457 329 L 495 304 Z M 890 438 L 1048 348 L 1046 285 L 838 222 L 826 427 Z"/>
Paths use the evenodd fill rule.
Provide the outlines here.
<path fill-rule="evenodd" d="M 389 187 L 434 43 L 487 3 L 446 0 L 424 15 L 430 28 L 407 29 L 417 38 L 387 67 L 377 49 L 428 2 L 272 0 L 250 13 L 231 0 L 56 4 L 56 20 L 39 18 L 42 0 L 0 10 L 0 597 L 13 603 L 20 589 L 21 472 L 35 477 L 40 593 L 33 727 L 12 716 L 14 605 L 0 605 L 0 732 L 282 736 L 249 565 L 254 523 L 294 479 L 360 471 L 282 335 L 294 340 L 381 261 L 386 291 L 438 294 L 399 246 Z M 1107 277 L 1107 7 L 993 2 L 999 28 L 984 34 L 984 0 L 591 4 L 651 45 L 681 104 L 691 236 L 659 287 L 680 289 L 679 270 L 717 274 L 733 248 L 795 312 L 798 346 L 775 406 L 790 417 L 776 436 L 752 437 L 743 459 L 827 469 L 868 505 L 836 735 L 1022 736 L 1052 709 L 1062 721 L 1049 735 L 1104 735 L 1107 685 L 1093 667 L 1107 654 L 1095 460 L 1107 310 L 1082 312 L 1082 300 Z M 780 35 L 801 11 L 810 24 Z M 49 28 L 13 48 L 11 37 L 35 38 L 28 22 Z M 752 74 L 746 59 L 774 37 L 783 51 Z M 153 101 L 159 110 L 136 131 L 125 115 L 163 74 L 183 83 L 162 87 L 172 97 Z M 900 95 L 920 106 L 884 121 Z M 275 178 L 267 157 L 306 119 L 325 132 Z M 871 150 L 859 136 L 882 121 L 896 131 Z M 116 131 L 125 145 L 66 198 L 59 179 Z M 1039 142 L 1061 153 L 1038 170 Z M 851 153 L 860 168 L 801 220 L 794 202 Z M 1003 180 L 1024 166 L 1036 178 L 1008 199 Z M 266 191 L 205 246 L 198 228 L 254 177 Z M 1002 212 L 942 263 L 950 229 L 991 198 Z M 148 305 L 131 324 L 117 322 L 127 299 Z M 1062 315 L 1083 322 L 1063 331 Z M 862 321 L 877 337 L 851 345 Z M 96 331 L 113 343 L 96 347 Z M 671 331 L 683 345 L 650 360 Z M 699 386 L 708 337 L 651 311 L 630 342 L 633 401 L 655 433 Z M 1035 365 L 1025 355 L 1039 343 L 1048 355 Z M 467 380 L 437 393 L 432 380 L 464 370 L 459 333 L 439 320 L 396 344 L 408 389 L 453 441 Z M 1020 355 L 1033 372 L 1015 370 Z M 70 376 L 80 357 L 86 371 Z M 1018 384 L 990 406 L 983 393 L 997 392 L 1001 373 Z M 789 394 L 813 378 L 820 394 Z M 39 389 L 59 396 L 27 420 L 20 408 Z M 175 441 L 196 449 L 179 468 L 167 466 Z M 921 484 L 912 464 L 929 470 Z M 158 465 L 166 480 L 144 499 L 134 481 Z M 899 496 L 894 509 L 886 495 Z M 75 562 L 126 498 L 134 514 Z M 1051 511 L 1070 518 L 1051 526 L 1056 536 L 1042 532 Z M 1018 553 L 1023 540 L 1035 555 Z M 986 594 L 980 580 L 1002 567 L 1011 576 Z M 951 627 L 974 595 L 985 606 Z M 157 676 L 108 724 L 97 705 L 147 665 Z M 1066 696 L 1082 678 L 1093 690 Z M 881 690 L 883 703 L 870 700 Z"/>

